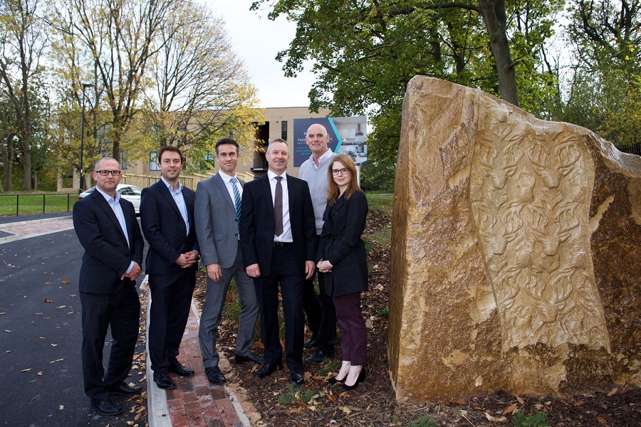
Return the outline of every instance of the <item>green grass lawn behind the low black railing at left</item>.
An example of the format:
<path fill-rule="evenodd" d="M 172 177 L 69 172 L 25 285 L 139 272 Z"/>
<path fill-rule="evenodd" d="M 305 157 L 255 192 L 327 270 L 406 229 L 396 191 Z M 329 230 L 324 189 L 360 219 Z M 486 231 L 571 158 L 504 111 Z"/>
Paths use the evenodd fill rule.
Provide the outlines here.
<path fill-rule="evenodd" d="M 18 215 L 71 211 L 76 201 L 78 201 L 76 194 L 67 193 L 0 194 L 0 216 L 15 216 L 16 204 L 18 204 Z"/>

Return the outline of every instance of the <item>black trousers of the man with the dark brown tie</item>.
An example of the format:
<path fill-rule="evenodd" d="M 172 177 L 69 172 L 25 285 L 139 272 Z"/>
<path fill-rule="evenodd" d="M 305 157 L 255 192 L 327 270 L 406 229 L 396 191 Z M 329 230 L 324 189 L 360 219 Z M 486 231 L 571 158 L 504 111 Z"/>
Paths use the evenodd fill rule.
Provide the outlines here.
<path fill-rule="evenodd" d="M 264 357 L 267 364 L 279 363 L 283 359 L 283 347 L 278 336 L 278 285 L 280 285 L 285 318 L 285 360 L 291 371 L 303 369 L 305 330 L 303 314 L 305 269 L 304 265 L 296 262 L 296 258 L 293 246 L 273 248 L 270 274 L 254 278 L 261 312 L 261 340 L 265 346 Z"/>

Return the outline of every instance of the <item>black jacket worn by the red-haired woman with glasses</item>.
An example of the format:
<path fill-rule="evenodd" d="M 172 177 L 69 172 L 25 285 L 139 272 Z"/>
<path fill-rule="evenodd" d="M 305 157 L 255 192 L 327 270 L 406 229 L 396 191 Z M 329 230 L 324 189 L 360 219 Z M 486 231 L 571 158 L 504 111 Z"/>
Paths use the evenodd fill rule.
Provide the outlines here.
<path fill-rule="evenodd" d="M 331 273 L 323 273 L 325 291 L 332 297 L 368 290 L 368 260 L 360 237 L 367 216 L 368 199 L 363 191 L 355 191 L 349 200 L 341 196 L 325 209 L 316 260 L 322 258 L 333 265 Z"/>

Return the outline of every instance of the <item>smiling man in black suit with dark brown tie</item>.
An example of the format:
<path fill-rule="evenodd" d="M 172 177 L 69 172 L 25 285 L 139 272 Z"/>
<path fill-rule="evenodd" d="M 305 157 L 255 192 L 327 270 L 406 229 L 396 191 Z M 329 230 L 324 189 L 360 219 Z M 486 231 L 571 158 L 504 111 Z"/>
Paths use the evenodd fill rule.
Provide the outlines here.
<path fill-rule="evenodd" d="M 303 384 L 303 283 L 314 273 L 316 226 L 306 181 L 285 173 L 287 143 L 274 139 L 267 148 L 269 171 L 244 186 L 241 248 L 246 272 L 254 278 L 261 312 L 264 366 L 257 378 L 283 364 L 278 337 L 278 284 L 283 297 L 289 381 Z"/>

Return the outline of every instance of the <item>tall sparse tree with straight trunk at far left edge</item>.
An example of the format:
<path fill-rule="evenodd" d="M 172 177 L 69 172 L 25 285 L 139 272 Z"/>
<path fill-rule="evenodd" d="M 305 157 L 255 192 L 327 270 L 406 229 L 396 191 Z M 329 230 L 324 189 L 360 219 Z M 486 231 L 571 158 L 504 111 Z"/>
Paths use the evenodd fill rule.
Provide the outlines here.
<path fill-rule="evenodd" d="M 21 143 L 25 190 L 31 190 L 31 80 L 42 72 L 39 61 L 46 48 L 43 22 L 37 16 L 38 0 L 0 1 L 0 80 L 11 105 L 16 135 Z M 10 135 L 6 141 L 12 141 Z"/>

